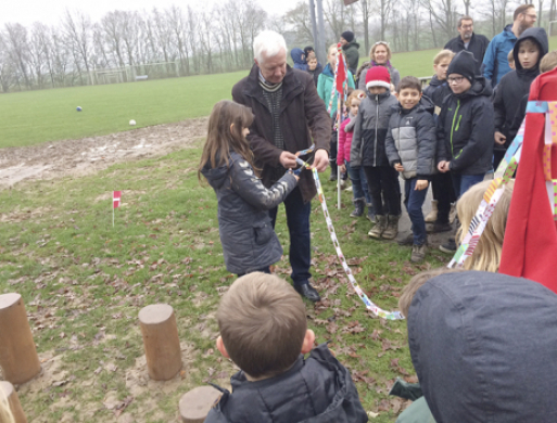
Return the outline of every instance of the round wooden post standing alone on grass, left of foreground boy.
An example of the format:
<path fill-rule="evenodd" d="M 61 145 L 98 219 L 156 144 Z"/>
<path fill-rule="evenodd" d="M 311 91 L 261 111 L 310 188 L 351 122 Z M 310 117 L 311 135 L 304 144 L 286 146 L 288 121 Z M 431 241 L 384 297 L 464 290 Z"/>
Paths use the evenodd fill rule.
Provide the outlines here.
<path fill-rule="evenodd" d="M 170 306 L 153 304 L 139 311 L 149 377 L 168 381 L 181 369 L 180 339 Z"/>

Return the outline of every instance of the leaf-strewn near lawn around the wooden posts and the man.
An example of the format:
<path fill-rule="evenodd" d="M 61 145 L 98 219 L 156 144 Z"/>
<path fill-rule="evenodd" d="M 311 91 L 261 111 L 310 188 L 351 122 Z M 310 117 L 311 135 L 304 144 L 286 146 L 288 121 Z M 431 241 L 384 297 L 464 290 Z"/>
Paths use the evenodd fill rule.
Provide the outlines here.
<path fill-rule="evenodd" d="M 0 293 L 22 294 L 46 372 L 20 388 L 29 422 L 115 422 L 114 403 L 126 398 L 126 421 L 176 421 L 183 393 L 228 385 L 235 370 L 214 346 L 214 312 L 233 279 L 224 268 L 215 195 L 198 181 L 200 152 L 197 143 L 94 176 L 0 192 Z M 448 260 L 432 251 L 428 262 L 409 264 L 409 247 L 370 240 L 370 223 L 349 217 L 351 193 L 338 210 L 334 184 L 324 188 L 344 255 L 380 307 L 395 309 L 412 274 Z M 115 228 L 111 189 L 123 191 Z M 277 233 L 288 246 L 282 210 Z M 312 244 L 325 300 L 306 303 L 309 326 L 352 370 L 365 409 L 380 413 L 372 421 L 393 422 L 402 403 L 389 387 L 414 375 L 406 322 L 374 318 L 347 289 L 317 201 Z M 277 272 L 288 278 L 287 260 Z M 150 382 L 141 358 L 137 316 L 155 303 L 175 308 L 183 349 L 185 372 L 166 383 Z"/>

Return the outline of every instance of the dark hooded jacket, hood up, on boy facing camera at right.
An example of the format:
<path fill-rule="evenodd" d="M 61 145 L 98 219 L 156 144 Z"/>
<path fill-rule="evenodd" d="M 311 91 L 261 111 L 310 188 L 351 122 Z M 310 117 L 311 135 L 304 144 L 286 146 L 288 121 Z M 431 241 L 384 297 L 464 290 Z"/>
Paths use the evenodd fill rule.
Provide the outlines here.
<path fill-rule="evenodd" d="M 537 63 L 530 69 L 524 69 L 518 60 L 519 46 L 526 39 L 533 40 L 540 49 Z M 520 110 L 520 102 L 530 92 L 530 85 L 540 75 L 540 62 L 549 50 L 549 41 L 544 28 L 529 28 L 518 38 L 512 55 L 515 57 L 516 70 L 509 72 L 503 78 L 495 91 L 493 107 L 495 110 L 495 130 L 507 137 L 505 145 L 495 145 L 495 150 L 507 150 L 514 139 L 515 131 L 511 131 L 512 120 Z"/>

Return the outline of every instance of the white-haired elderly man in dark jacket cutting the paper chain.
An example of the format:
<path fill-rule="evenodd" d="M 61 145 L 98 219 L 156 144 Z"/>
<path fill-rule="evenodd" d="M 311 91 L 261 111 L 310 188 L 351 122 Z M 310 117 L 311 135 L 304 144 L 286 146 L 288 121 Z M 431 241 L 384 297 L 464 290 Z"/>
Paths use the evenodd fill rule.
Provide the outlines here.
<path fill-rule="evenodd" d="M 295 154 L 315 144 L 313 166 L 325 171 L 329 164 L 330 118 L 317 95 L 312 75 L 287 65 L 284 38 L 264 30 L 253 42 L 255 54 L 250 75 L 232 88 L 236 102 L 251 107 L 255 119 L 250 141 L 265 187 L 296 167 Z M 317 193 L 311 171 L 303 171 L 299 185 L 284 200 L 290 232 L 290 265 L 295 290 L 312 302 L 320 299 L 311 285 L 309 214 Z M 277 208 L 269 210 L 273 225 Z"/>

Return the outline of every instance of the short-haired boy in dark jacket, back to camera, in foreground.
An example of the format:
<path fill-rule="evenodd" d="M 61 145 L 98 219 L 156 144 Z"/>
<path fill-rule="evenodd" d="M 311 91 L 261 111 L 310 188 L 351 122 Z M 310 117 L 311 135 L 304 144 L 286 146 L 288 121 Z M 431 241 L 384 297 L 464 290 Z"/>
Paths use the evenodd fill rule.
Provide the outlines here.
<path fill-rule="evenodd" d="M 242 370 L 205 423 L 368 421 L 350 372 L 326 344 L 312 351 L 304 303 L 286 281 L 261 272 L 238 279 L 217 320 L 217 348 Z"/>

